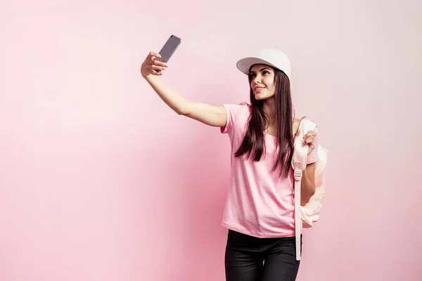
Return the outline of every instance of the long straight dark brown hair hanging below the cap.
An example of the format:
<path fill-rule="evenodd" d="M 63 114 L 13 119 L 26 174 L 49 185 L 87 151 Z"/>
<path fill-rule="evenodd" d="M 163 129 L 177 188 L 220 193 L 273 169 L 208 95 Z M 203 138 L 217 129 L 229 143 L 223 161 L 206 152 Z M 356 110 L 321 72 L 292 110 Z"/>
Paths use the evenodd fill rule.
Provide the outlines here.
<path fill-rule="evenodd" d="M 275 124 L 277 129 L 276 150 L 278 155 L 274 162 L 273 171 L 280 168 L 280 176 L 288 176 L 290 163 L 293 157 L 293 105 L 290 94 L 290 80 L 281 70 L 274 70 L 276 84 L 276 111 Z M 249 75 L 249 85 L 251 77 Z M 263 100 L 256 100 L 253 90 L 250 89 L 250 103 L 252 112 L 248 119 L 248 130 L 243 137 L 241 146 L 235 152 L 235 157 L 246 154 L 246 159 L 252 156 L 254 161 L 260 161 L 264 152 L 264 130 L 269 125 L 269 117 L 264 113 Z"/>

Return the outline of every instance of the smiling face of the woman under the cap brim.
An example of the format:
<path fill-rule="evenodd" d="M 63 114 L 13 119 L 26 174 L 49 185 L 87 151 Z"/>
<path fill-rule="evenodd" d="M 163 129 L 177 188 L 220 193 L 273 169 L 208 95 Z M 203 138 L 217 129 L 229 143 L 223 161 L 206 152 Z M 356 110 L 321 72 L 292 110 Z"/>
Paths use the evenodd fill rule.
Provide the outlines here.
<path fill-rule="evenodd" d="M 250 68 L 250 88 L 256 100 L 271 98 L 276 93 L 274 69 L 269 65 L 253 65 Z"/>

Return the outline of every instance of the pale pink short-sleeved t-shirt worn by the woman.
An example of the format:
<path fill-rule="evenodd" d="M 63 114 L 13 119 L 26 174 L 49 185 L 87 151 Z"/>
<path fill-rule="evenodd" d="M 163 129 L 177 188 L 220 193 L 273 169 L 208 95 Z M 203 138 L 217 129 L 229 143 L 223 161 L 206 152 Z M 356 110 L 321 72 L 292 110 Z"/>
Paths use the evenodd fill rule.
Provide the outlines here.
<path fill-rule="evenodd" d="M 276 137 L 264 133 L 266 149 L 259 162 L 245 160 L 234 153 L 243 141 L 250 115 L 248 103 L 224 105 L 226 126 L 231 143 L 231 181 L 222 218 L 222 226 L 255 237 L 295 236 L 293 169 L 287 178 L 279 177 L 274 166 Z M 314 138 L 317 147 L 317 138 Z M 316 162 L 316 150 L 307 157 L 307 164 Z"/>

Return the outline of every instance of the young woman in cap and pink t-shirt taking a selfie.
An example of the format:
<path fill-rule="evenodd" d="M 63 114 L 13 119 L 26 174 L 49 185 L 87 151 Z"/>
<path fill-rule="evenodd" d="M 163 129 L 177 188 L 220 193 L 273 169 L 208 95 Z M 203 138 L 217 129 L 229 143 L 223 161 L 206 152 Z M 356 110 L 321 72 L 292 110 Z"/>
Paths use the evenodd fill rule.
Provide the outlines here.
<path fill-rule="evenodd" d="M 249 77 L 250 104 L 207 105 L 186 100 L 160 76 L 167 64 L 149 53 L 142 77 L 179 115 L 221 128 L 231 141 L 231 185 L 222 226 L 228 228 L 225 253 L 227 281 L 295 280 L 294 178 L 291 160 L 300 120 L 290 96 L 290 60 L 265 48 L 238 61 Z M 157 72 L 157 70 L 161 70 Z M 302 205 L 314 195 L 316 130 L 308 131 L 307 167 L 301 182 Z"/>

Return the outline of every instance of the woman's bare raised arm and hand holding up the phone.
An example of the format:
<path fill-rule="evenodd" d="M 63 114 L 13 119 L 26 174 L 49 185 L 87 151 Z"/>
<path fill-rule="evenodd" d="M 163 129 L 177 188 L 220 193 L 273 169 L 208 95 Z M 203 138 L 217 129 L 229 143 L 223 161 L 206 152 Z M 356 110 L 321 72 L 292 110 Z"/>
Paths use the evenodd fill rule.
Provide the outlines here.
<path fill-rule="evenodd" d="M 176 90 L 167 85 L 160 77 L 165 72 L 167 65 L 155 60 L 155 58 L 160 58 L 160 54 L 153 52 L 148 54 L 141 65 L 142 77 L 148 81 L 148 84 L 158 93 L 158 96 L 174 112 L 210 126 L 222 127 L 226 125 L 226 109 L 222 105 L 193 102 L 180 96 Z M 157 72 L 157 70 L 160 70 L 160 72 Z"/>

